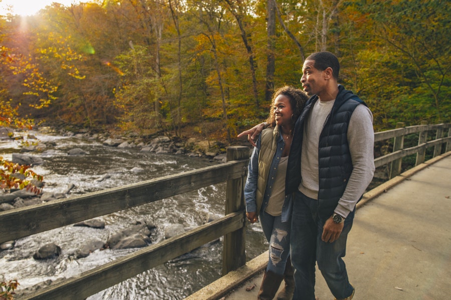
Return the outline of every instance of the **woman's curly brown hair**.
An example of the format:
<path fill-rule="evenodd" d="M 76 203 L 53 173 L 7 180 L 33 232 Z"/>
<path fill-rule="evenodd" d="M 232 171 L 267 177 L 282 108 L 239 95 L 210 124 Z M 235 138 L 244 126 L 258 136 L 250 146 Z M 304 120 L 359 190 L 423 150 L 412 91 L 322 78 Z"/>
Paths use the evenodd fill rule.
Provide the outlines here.
<path fill-rule="evenodd" d="M 276 101 L 278 95 L 284 95 L 288 97 L 288 99 L 290 100 L 291 109 L 293 110 L 293 116 L 291 117 L 291 119 L 293 123 L 295 123 L 299 115 L 301 114 L 301 111 L 304 108 L 305 103 L 309 99 L 309 96 L 302 89 L 290 85 L 285 85 L 276 90 L 271 100 L 270 114 L 266 119 L 266 122 L 270 124 L 271 127 L 276 126 L 276 116 L 274 115 L 274 102 Z"/>

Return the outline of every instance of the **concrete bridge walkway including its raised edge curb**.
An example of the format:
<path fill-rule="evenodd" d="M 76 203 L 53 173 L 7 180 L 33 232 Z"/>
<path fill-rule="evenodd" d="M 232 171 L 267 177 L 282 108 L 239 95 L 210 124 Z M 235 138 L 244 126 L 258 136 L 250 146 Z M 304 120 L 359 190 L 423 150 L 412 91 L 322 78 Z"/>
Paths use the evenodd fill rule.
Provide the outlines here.
<path fill-rule="evenodd" d="M 354 300 L 451 299 L 451 152 L 365 194 L 344 260 Z M 257 299 L 267 261 L 265 252 L 188 299 Z M 316 280 L 317 297 L 334 299 L 318 269 Z"/>

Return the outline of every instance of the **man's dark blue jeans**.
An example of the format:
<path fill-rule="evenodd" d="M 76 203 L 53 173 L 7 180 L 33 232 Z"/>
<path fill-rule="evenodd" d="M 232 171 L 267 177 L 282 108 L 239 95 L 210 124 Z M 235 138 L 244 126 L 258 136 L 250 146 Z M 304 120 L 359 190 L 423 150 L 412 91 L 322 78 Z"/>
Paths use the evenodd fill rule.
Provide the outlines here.
<path fill-rule="evenodd" d="M 309 198 L 300 191 L 296 193 L 290 238 L 296 285 L 293 300 L 315 300 L 315 261 L 337 299 L 352 294 L 353 287 L 349 283 L 342 257 L 346 254 L 346 239 L 352 227 L 354 211 L 346 217 L 340 237 L 332 243 L 324 242 L 321 234 L 326 219 L 318 216 L 318 200 Z"/>

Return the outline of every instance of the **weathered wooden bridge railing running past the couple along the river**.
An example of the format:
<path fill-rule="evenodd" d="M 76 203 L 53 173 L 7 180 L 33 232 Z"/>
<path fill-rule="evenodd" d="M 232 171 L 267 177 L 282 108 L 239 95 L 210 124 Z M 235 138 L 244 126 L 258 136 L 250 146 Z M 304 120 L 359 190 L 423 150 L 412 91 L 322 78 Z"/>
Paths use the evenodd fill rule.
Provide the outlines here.
<path fill-rule="evenodd" d="M 376 167 L 391 164 L 391 176 L 400 171 L 404 156 L 416 153 L 418 164 L 424 161 L 429 147 L 434 147 L 433 156 L 451 151 L 451 123 L 400 126 L 398 124 L 399 128 L 374 135 L 375 142 L 386 140 L 386 143 L 393 144 L 392 153 L 374 160 Z M 430 132 L 435 134 L 433 140 L 430 140 Z M 404 136 L 408 134 L 418 134 L 418 145 L 403 148 Z M 1 243 L 227 181 L 225 216 L 220 219 L 141 248 L 21 299 L 84 299 L 220 236 L 224 236 L 222 274 L 244 265 L 246 218 L 243 189 L 248 162 L 248 147 L 229 147 L 227 162 L 222 164 L 0 212 Z"/>

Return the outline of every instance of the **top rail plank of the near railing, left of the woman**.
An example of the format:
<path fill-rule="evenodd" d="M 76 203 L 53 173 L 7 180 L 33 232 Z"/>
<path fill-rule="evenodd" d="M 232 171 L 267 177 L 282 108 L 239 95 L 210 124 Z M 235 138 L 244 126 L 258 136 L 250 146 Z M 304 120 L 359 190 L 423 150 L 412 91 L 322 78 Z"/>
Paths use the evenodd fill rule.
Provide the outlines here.
<path fill-rule="evenodd" d="M 248 160 L 230 161 L 77 197 L 0 212 L 0 243 L 241 178 Z"/>

